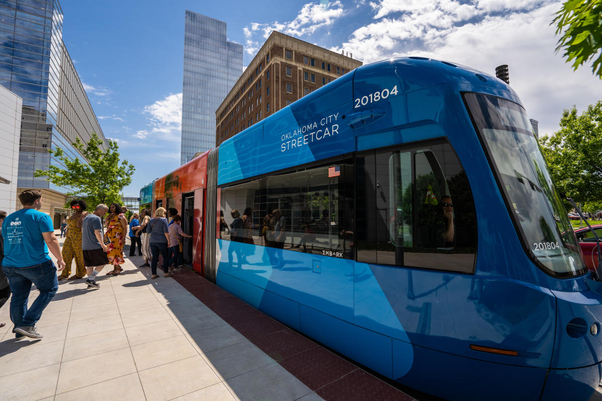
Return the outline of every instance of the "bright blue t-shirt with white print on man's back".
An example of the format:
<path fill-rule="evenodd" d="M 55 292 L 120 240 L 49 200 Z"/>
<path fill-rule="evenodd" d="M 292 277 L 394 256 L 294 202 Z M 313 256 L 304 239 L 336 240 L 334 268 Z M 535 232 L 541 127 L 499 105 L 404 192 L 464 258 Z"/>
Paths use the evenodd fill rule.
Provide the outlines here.
<path fill-rule="evenodd" d="M 21 209 L 6 216 L 2 223 L 4 260 L 2 265 L 26 268 L 50 259 L 42 233 L 54 233 L 52 219 L 36 209 Z"/>

